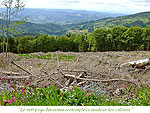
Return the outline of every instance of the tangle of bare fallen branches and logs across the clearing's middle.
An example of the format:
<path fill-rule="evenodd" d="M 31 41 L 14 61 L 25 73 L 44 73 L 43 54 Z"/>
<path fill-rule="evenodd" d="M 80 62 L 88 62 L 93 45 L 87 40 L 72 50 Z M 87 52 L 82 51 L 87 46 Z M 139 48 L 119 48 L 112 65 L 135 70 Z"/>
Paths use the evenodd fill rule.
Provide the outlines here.
<path fill-rule="evenodd" d="M 52 74 L 46 74 L 45 76 L 39 76 L 39 75 L 34 75 L 32 74 L 32 72 L 27 71 L 27 69 L 25 69 L 24 67 L 18 65 L 15 62 L 12 62 L 12 64 L 16 65 L 18 68 L 22 69 L 24 72 L 26 72 L 26 74 L 23 73 L 16 73 L 16 72 L 7 72 L 7 71 L 3 71 L 1 73 L 7 74 L 7 75 L 11 75 L 11 76 L 7 76 L 6 80 L 31 80 L 32 79 L 32 85 L 36 86 L 39 82 L 41 82 L 43 79 L 48 78 L 50 81 L 53 81 L 55 84 L 57 84 L 60 88 L 64 88 L 64 87 L 69 87 L 69 86 L 83 86 L 85 83 L 87 82 L 103 82 L 103 83 L 107 83 L 107 82 L 117 82 L 117 81 L 122 81 L 122 82 L 126 82 L 126 83 L 130 83 L 133 85 L 136 85 L 134 82 L 132 81 L 128 81 L 125 79 L 107 79 L 107 80 L 99 80 L 99 79 L 88 79 L 86 77 L 88 77 L 87 72 L 85 70 L 58 70 L 59 72 L 54 72 Z M 133 64 L 133 63 L 131 63 Z M 66 74 L 64 73 L 64 71 L 67 72 L 78 72 L 80 73 L 78 76 L 76 75 L 71 75 L 71 74 Z M 62 76 L 64 76 L 64 78 L 66 78 L 65 83 L 60 83 L 59 81 L 55 80 L 52 75 L 53 74 L 58 74 L 60 73 Z"/>

